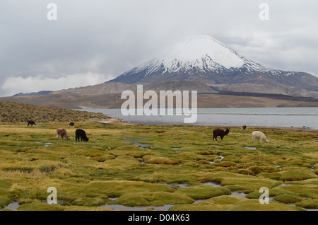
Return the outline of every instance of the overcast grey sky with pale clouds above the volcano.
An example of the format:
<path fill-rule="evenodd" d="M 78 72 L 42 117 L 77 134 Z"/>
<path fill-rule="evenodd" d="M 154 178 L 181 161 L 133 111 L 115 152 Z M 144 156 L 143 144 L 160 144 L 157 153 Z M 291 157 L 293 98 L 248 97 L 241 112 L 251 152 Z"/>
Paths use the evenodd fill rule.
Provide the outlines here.
<path fill-rule="evenodd" d="M 0 96 L 102 83 L 192 35 L 318 76 L 317 11 L 315 0 L 1 0 Z"/>

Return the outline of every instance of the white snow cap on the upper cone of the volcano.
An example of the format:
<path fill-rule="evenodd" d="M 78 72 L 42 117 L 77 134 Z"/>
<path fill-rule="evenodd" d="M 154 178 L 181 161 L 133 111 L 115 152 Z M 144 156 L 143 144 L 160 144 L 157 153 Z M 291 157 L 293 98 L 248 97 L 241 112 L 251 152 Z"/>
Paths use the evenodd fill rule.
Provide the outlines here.
<path fill-rule="evenodd" d="M 163 55 L 143 64 L 136 71 L 148 69 L 148 74 L 155 71 L 179 73 L 193 69 L 196 71 L 220 71 L 240 68 L 244 64 L 253 64 L 255 69 L 265 69 L 212 37 L 201 35 L 180 40 Z"/>

